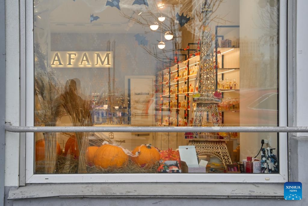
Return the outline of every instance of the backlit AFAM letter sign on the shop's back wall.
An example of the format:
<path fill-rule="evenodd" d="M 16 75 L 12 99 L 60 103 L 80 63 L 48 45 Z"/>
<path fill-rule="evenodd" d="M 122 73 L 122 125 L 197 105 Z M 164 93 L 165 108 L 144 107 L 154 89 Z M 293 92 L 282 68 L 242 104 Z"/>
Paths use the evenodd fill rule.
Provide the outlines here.
<path fill-rule="evenodd" d="M 51 52 L 52 68 L 110 68 L 113 53 L 104 52 Z"/>

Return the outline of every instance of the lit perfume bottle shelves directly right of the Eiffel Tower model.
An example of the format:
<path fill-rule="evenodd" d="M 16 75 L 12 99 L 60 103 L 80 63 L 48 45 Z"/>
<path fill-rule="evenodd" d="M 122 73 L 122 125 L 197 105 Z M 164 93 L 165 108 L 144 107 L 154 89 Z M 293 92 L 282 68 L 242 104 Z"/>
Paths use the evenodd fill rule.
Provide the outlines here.
<path fill-rule="evenodd" d="M 225 27 L 239 31 L 239 26 Z M 231 37 L 233 39 L 229 39 L 229 30 L 227 32 L 227 30 L 221 29 L 219 32 L 221 33 L 216 33 L 215 51 L 217 53 L 214 55 L 215 60 L 217 60 L 214 60 L 216 89 L 221 92 L 222 98 L 221 102 L 218 103 L 218 111 L 221 114 L 222 125 L 239 126 L 241 89 L 239 38 Z"/>

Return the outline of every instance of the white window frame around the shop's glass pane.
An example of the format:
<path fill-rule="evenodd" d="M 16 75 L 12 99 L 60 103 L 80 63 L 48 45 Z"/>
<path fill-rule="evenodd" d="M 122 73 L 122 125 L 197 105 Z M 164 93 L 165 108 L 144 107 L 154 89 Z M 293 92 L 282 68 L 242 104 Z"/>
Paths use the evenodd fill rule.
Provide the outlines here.
<path fill-rule="evenodd" d="M 23 9 L 23 8 L 20 8 Z M 26 126 L 34 126 L 33 0 L 26 0 Z M 287 1 L 279 1 L 279 126 L 287 126 Z M 287 133 L 279 133 L 279 174 L 34 174 L 34 133 L 26 133 L 26 183 L 229 182 L 288 181 Z"/>

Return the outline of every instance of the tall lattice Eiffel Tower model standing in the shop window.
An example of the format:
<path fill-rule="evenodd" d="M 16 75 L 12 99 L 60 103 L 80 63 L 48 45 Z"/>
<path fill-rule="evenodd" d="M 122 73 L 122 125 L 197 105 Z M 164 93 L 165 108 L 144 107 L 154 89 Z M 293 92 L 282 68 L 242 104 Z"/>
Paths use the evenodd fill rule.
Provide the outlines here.
<path fill-rule="evenodd" d="M 197 103 L 193 120 L 194 127 L 202 126 L 203 116 L 210 115 L 213 126 L 221 126 L 221 120 L 217 105 L 220 98 L 214 96 L 215 76 L 213 68 L 213 41 L 209 27 L 211 6 L 205 5 L 203 8 L 203 32 L 200 47 L 200 69 L 197 74 L 199 97 L 194 98 Z M 195 145 L 197 155 L 210 154 L 218 157 L 221 162 L 232 164 L 228 148 L 225 141 L 229 141 L 229 136 L 220 136 L 217 133 L 194 132 L 193 140 L 188 145 Z"/>

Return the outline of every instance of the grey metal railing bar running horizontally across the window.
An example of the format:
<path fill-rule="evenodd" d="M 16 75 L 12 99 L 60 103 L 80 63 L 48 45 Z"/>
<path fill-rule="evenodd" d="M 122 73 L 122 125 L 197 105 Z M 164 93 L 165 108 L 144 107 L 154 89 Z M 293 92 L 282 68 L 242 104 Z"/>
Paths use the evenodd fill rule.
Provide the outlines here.
<path fill-rule="evenodd" d="M 21 127 L 5 123 L 8 132 L 308 132 L 308 127 Z"/>

